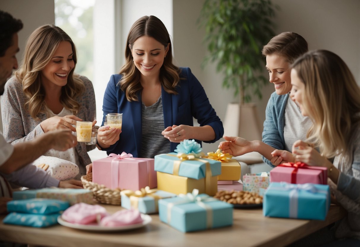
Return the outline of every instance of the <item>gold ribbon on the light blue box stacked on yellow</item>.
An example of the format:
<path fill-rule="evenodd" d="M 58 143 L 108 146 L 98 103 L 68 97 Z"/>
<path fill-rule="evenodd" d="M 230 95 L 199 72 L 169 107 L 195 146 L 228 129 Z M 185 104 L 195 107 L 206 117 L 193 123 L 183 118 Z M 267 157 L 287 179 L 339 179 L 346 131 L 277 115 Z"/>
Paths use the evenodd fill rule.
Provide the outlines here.
<path fill-rule="evenodd" d="M 211 189 L 211 176 L 212 176 L 212 172 L 211 172 L 211 167 L 210 167 L 210 163 L 207 160 L 203 160 L 198 158 L 197 156 L 201 156 L 203 153 L 199 153 L 199 154 L 195 154 L 195 153 L 190 153 L 190 154 L 186 154 L 186 153 L 178 153 L 176 155 L 176 157 L 178 157 L 180 160 L 178 161 L 174 161 L 174 167 L 172 170 L 172 174 L 175 176 L 179 176 L 179 170 L 180 170 L 180 164 L 181 162 L 185 161 L 185 160 L 194 160 L 194 161 L 200 161 L 205 163 L 205 193 L 209 194 L 210 192 L 208 190 Z M 174 154 L 167 154 L 170 156 L 175 156 Z"/>

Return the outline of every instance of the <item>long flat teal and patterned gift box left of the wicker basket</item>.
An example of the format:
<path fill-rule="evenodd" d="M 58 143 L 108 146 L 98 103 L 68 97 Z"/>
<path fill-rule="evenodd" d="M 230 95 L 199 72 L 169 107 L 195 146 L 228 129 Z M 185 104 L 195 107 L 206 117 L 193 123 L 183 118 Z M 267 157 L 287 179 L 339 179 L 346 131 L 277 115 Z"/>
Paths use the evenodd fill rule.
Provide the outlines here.
<path fill-rule="evenodd" d="M 93 192 L 89 189 L 62 189 L 62 188 L 44 188 L 27 189 L 13 192 L 14 200 L 31 198 L 59 199 L 74 205 L 79 202 L 94 204 Z"/>

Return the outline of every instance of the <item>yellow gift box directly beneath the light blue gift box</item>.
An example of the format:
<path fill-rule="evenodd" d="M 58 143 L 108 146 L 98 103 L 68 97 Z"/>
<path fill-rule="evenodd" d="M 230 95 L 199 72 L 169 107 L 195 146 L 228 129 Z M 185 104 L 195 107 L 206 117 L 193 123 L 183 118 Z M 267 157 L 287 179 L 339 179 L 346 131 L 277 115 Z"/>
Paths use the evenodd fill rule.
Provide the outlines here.
<path fill-rule="evenodd" d="M 192 179 L 165 172 L 157 172 L 158 189 L 174 194 L 191 193 L 193 189 L 198 189 L 199 193 L 214 196 L 217 192 L 217 176 L 211 176 L 208 180 L 210 180 L 210 183 L 208 183 L 208 186 L 205 186 L 205 178 Z"/>

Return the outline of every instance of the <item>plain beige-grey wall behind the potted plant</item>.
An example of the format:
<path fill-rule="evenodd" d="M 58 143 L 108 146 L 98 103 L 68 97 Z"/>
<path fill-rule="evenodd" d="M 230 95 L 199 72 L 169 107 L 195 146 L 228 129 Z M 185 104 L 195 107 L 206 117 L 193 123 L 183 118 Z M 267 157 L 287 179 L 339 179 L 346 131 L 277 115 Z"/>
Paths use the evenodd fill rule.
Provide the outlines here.
<path fill-rule="evenodd" d="M 226 105 L 237 102 L 232 91 L 222 89 L 222 75 L 215 66 L 201 69 L 206 55 L 203 44 L 204 30 L 199 30 L 196 20 L 204 1 L 174 0 L 174 54 L 180 66 L 190 67 L 203 85 L 210 103 L 221 120 Z M 310 49 L 328 49 L 342 57 L 360 84 L 360 1 L 357 0 L 273 0 L 280 6 L 276 13 L 275 33 L 298 32 L 309 43 Z M 265 44 L 264 44 L 265 45 Z M 264 69 L 265 73 L 265 69 Z M 274 91 L 270 83 L 262 90 L 263 99 L 258 104 L 260 121 L 265 120 L 265 108 Z M 216 150 L 219 142 L 204 144 L 204 150 Z"/>

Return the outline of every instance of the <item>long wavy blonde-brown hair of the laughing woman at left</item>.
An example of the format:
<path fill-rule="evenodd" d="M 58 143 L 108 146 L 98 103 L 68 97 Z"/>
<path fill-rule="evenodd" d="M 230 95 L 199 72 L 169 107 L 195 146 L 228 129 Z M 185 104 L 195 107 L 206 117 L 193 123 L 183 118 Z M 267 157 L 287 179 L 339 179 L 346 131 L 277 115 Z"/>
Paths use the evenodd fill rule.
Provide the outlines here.
<path fill-rule="evenodd" d="M 75 99 L 85 90 L 85 85 L 78 75 L 73 74 L 77 62 L 75 45 L 61 28 L 54 25 L 40 26 L 26 41 L 23 62 L 15 72 L 28 99 L 25 106 L 28 106 L 30 116 L 34 119 L 39 119 L 37 115 L 45 112 L 45 90 L 41 85 L 40 72 L 50 62 L 61 41 L 71 44 L 74 68 L 68 75 L 67 84 L 61 89 L 60 103 L 73 114 L 77 114 L 80 107 Z"/>

